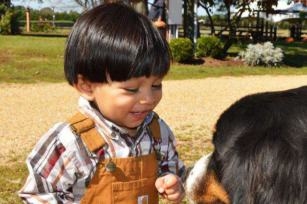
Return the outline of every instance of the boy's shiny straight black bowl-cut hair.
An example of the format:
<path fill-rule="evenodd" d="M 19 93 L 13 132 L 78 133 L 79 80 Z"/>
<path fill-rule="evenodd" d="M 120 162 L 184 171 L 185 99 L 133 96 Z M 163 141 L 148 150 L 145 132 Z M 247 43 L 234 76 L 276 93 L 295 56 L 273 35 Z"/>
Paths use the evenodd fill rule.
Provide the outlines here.
<path fill-rule="evenodd" d="M 97 6 L 85 12 L 68 37 L 65 77 L 70 85 L 77 74 L 90 82 L 155 75 L 164 77 L 171 53 L 166 39 L 144 15 L 120 3 Z"/>

